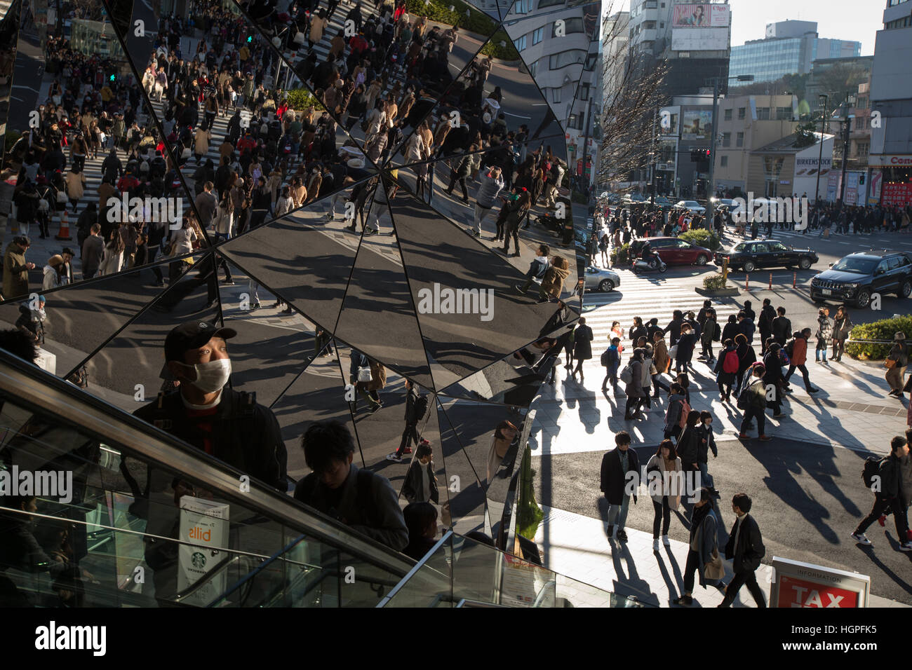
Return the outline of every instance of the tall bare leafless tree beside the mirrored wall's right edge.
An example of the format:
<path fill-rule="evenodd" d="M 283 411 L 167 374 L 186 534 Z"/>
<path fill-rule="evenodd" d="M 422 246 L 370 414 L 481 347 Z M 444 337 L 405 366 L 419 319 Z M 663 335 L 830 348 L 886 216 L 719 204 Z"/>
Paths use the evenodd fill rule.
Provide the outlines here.
<path fill-rule="evenodd" d="M 609 6 L 610 14 L 610 6 Z M 620 15 L 617 15 L 620 17 Z M 665 104 L 662 92 L 668 65 L 644 51 L 630 50 L 627 21 L 604 24 L 602 36 L 602 147 L 599 181 L 625 181 L 637 169 L 646 168 L 658 133 L 658 108 Z"/>

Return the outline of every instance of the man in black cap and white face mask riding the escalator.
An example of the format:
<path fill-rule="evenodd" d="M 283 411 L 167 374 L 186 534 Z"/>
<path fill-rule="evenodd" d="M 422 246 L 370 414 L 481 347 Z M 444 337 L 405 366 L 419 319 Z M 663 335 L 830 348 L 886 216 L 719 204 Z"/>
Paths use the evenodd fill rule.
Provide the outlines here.
<path fill-rule="evenodd" d="M 165 338 L 165 366 L 179 387 L 133 414 L 217 459 L 287 490 L 287 452 L 275 415 L 254 393 L 228 387 L 225 340 L 237 335 L 205 321 L 178 325 Z"/>

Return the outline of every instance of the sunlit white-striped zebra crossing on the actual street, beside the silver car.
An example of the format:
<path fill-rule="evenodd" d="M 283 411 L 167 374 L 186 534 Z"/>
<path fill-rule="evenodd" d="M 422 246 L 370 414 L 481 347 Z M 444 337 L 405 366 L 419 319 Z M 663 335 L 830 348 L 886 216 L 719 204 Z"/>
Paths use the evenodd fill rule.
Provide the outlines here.
<path fill-rule="evenodd" d="M 671 321 L 676 309 L 687 314 L 693 310 L 700 311 L 707 298 L 694 292 L 692 286 L 686 286 L 674 279 L 664 280 L 655 275 L 641 276 L 629 270 L 615 270 L 621 277 L 620 287 L 608 294 L 588 293 L 584 298 L 583 316 L 586 325 L 592 328 L 594 336 L 593 350 L 601 351 L 607 346 L 612 335 L 611 324 L 620 322 L 624 329 L 621 338 L 625 347 L 629 346 L 627 333 L 633 325 L 634 316 L 643 319 L 658 318 L 658 325 L 665 327 Z M 713 300 L 712 306 L 720 325 L 725 325 L 729 314 L 738 314 L 740 305 L 733 299 Z"/>

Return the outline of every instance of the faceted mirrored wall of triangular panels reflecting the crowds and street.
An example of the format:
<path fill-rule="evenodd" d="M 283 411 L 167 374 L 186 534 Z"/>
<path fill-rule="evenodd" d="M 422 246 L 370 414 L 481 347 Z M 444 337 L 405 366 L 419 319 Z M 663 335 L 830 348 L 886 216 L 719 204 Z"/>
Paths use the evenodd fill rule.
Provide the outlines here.
<path fill-rule="evenodd" d="M 569 179 L 544 181 L 566 169 L 572 105 L 523 49 L 554 11 L 591 39 L 591 5 L 4 3 L 3 244 L 26 235 L 35 267 L 5 277 L 0 323 L 129 412 L 171 387 L 174 325 L 232 327 L 231 384 L 275 413 L 294 479 L 307 425 L 336 418 L 400 487 L 409 461 L 385 457 L 408 379 L 444 513 L 492 531 L 494 429 L 522 426 L 581 310 Z M 542 243 L 563 303 L 520 290 Z M 360 354 L 372 413 L 346 394 Z"/>

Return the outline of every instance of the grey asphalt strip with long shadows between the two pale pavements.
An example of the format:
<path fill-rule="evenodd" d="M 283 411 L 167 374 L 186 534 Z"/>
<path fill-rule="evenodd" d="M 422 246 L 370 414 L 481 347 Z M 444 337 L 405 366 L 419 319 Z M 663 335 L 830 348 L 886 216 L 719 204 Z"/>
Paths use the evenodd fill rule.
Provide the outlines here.
<path fill-rule="evenodd" d="M 645 464 L 651 447 L 637 448 Z M 534 457 L 535 494 L 543 505 L 607 520 L 607 505 L 599 491 L 602 452 Z M 753 500 L 766 545 L 763 562 L 773 556 L 813 562 L 871 575 L 871 592 L 912 604 L 912 553 L 896 551 L 896 527 L 876 522 L 867 531 L 874 546 L 859 547 L 849 534 L 871 509 L 873 497 L 861 481 L 868 454 L 788 439 L 762 444 L 756 440 L 719 443 L 719 458 L 710 458 L 710 475 L 720 490 L 720 542 L 734 521 L 731 496 L 747 492 Z M 668 535 L 689 541 L 686 516 L 672 514 Z M 653 507 L 648 496 L 630 505 L 627 527 L 651 531 Z"/>

